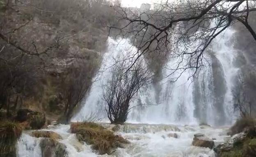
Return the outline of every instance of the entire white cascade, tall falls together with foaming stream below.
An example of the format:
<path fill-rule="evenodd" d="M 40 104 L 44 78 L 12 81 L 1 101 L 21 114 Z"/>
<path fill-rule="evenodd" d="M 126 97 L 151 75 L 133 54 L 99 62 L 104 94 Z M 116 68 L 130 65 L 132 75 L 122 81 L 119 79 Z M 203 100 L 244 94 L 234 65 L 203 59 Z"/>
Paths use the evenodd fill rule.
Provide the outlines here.
<path fill-rule="evenodd" d="M 89 145 L 80 143 L 75 134 L 70 133 L 69 125 L 48 126 L 43 130 L 53 131 L 62 137 L 58 142 L 65 146 L 66 157 L 215 157 L 213 150 L 195 147 L 191 143 L 195 133 L 203 133 L 215 139 L 216 144 L 229 139 L 226 127 L 197 124 L 217 126 L 231 124 L 233 121 L 232 78 L 237 75 L 238 68 L 233 66 L 236 55 L 229 42 L 232 35 L 233 31 L 228 30 L 225 39 L 216 39 L 219 42 L 213 43 L 205 54 L 208 64 L 194 78 L 194 82 L 187 80 L 191 74 L 189 71 L 185 71 L 176 82 L 170 82 L 167 76 L 172 71 L 168 67 L 175 63 L 175 60 L 170 60 L 166 68 L 162 69 L 163 79 L 157 85 L 149 84 L 138 93 L 137 99 L 130 103 L 130 106 L 136 107 L 131 109 L 128 122 L 148 124 L 121 126 L 119 134 L 131 142 L 128 147 L 118 148 L 112 155 L 98 155 Z M 115 57 L 120 53 L 136 52 L 136 48 L 128 41 L 109 38 L 108 42 L 103 64 L 94 78 L 91 91 L 81 111 L 72 121 L 81 121 L 95 114 L 98 118 L 103 118 L 103 122 L 108 122 L 102 99 L 102 85 L 111 75 L 110 69 Z M 103 125 L 112 127 L 111 124 Z M 31 137 L 30 133 L 31 131 L 23 133 L 19 139 L 17 157 L 43 157 L 40 146 L 43 138 Z M 171 137 L 174 133 L 178 138 Z"/>

